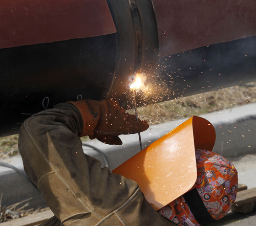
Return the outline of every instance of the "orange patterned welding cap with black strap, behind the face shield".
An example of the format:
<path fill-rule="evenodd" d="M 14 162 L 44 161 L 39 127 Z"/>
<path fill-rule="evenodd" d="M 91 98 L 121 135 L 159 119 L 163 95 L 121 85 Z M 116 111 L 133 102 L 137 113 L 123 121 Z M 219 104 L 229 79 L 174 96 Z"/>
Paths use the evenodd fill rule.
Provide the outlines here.
<path fill-rule="evenodd" d="M 193 189 L 158 212 L 177 225 L 207 225 L 224 217 L 238 188 L 236 168 L 212 151 L 196 150 L 197 180 Z"/>

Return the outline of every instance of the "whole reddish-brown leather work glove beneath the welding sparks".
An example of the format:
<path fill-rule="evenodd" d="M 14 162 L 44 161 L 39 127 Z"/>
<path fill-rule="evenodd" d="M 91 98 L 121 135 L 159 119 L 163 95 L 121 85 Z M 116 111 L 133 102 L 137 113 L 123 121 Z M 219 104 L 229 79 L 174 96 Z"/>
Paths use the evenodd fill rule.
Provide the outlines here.
<path fill-rule="evenodd" d="M 81 114 L 83 130 L 81 137 L 89 135 L 106 144 L 121 145 L 121 134 L 142 132 L 148 128 L 145 120 L 136 121 L 136 116 L 127 114 L 113 100 L 81 100 L 69 102 L 76 106 Z"/>

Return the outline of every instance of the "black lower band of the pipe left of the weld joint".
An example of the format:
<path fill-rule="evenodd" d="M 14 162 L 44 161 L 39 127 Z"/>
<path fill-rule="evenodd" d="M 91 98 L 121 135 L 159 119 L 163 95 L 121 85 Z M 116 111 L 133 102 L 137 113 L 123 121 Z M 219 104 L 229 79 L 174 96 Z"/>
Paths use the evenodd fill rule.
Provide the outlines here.
<path fill-rule="evenodd" d="M 56 103 L 104 99 L 115 57 L 115 34 L 1 49 L 0 135 Z"/>

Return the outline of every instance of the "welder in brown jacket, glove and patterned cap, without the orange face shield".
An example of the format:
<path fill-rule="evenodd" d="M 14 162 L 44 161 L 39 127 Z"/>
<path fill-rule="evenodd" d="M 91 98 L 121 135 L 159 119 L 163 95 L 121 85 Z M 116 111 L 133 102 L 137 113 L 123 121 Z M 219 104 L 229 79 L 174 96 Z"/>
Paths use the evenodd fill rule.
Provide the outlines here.
<path fill-rule="evenodd" d="M 136 182 L 83 153 L 85 135 L 121 145 L 120 134 L 147 128 L 112 100 L 60 103 L 27 119 L 19 134 L 24 168 L 55 214 L 42 225 L 200 225 L 226 215 L 236 198 L 237 171 L 214 152 L 196 151 L 194 189 L 186 201 L 181 196 L 159 212 Z M 194 202 L 202 204 L 199 213 Z"/>

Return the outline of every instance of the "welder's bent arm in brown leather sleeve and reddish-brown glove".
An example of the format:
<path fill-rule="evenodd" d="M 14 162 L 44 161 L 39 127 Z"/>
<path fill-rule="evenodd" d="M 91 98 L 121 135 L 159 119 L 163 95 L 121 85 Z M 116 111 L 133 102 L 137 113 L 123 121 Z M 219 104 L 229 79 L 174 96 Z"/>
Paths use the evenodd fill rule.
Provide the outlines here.
<path fill-rule="evenodd" d="M 144 130 L 145 122 L 136 123 L 130 115 L 121 120 L 124 112 L 114 103 L 108 102 L 108 107 L 104 105 L 101 111 L 100 104 L 97 106 L 95 102 L 94 106 L 77 103 L 62 103 L 41 111 L 20 129 L 19 151 L 25 171 L 53 213 L 65 225 L 172 224 L 148 204 L 137 183 L 111 174 L 93 157 L 84 155 L 79 139 L 80 135 L 88 134 L 120 144 L 117 135 Z M 120 120 L 120 128 L 106 126 L 110 119 Z"/>

